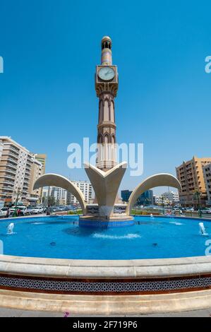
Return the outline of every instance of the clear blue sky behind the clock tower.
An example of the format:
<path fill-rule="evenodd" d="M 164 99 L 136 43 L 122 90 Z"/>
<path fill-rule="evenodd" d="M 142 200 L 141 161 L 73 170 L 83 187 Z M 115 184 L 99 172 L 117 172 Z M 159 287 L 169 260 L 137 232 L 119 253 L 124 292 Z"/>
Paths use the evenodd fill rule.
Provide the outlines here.
<path fill-rule="evenodd" d="M 0 135 L 47 153 L 47 172 L 85 179 L 66 149 L 96 141 L 95 65 L 110 35 L 117 140 L 144 143 L 143 176 L 127 172 L 121 189 L 210 157 L 210 11 L 210 1 L 1 0 Z"/>

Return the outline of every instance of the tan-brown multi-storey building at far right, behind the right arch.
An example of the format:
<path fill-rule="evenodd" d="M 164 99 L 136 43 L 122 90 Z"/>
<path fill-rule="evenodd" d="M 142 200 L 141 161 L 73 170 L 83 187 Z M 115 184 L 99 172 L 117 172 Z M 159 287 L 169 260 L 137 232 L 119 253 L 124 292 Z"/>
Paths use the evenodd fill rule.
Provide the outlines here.
<path fill-rule="evenodd" d="M 206 205 L 207 191 L 205 187 L 205 179 L 203 175 L 203 167 L 211 162 L 211 158 L 197 158 L 183 162 L 176 167 L 176 177 L 181 183 L 181 191 L 179 191 L 179 200 L 182 206 L 198 207 L 198 198 L 195 194 L 200 193 L 200 204 Z"/>

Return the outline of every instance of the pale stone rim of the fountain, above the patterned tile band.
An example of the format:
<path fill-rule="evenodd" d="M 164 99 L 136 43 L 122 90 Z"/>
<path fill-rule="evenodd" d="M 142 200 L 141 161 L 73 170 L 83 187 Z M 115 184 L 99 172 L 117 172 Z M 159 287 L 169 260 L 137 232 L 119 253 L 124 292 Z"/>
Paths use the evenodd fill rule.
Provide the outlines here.
<path fill-rule="evenodd" d="M 168 278 L 211 275 L 211 256 L 88 260 L 0 255 L 0 274 L 52 278 Z"/>

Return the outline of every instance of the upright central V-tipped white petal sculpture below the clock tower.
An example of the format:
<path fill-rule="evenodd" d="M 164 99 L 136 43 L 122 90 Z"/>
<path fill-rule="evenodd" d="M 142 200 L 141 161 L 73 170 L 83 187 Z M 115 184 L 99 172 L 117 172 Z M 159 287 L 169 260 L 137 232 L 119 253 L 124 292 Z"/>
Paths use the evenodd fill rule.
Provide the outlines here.
<path fill-rule="evenodd" d="M 114 203 L 118 193 L 123 174 L 126 172 L 127 163 L 121 162 L 107 172 L 85 162 L 85 172 L 92 183 L 100 217 L 111 217 L 114 212 Z"/>

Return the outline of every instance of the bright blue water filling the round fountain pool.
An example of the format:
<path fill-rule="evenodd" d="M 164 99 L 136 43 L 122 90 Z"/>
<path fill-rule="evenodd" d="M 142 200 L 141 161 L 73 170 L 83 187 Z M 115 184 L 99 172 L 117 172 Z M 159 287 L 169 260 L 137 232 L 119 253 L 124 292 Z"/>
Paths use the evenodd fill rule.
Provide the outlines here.
<path fill-rule="evenodd" d="M 14 234 L 6 228 L 14 223 Z M 211 220 L 135 217 L 135 225 L 108 229 L 79 227 L 77 216 L 0 220 L 4 254 L 59 259 L 159 259 L 204 256 Z"/>

